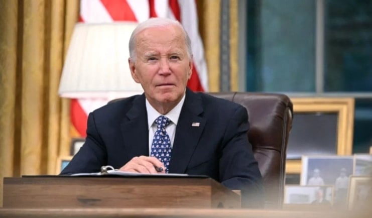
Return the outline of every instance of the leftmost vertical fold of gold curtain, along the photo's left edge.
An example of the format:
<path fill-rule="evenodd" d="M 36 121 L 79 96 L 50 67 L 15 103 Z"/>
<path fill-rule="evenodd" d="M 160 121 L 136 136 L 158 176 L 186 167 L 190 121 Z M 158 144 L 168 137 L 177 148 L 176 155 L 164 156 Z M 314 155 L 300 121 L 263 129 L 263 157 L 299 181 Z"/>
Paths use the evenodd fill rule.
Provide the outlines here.
<path fill-rule="evenodd" d="M 18 1 L 0 4 L 0 178 L 12 176 L 17 72 Z M 3 31 L 4 30 L 4 31 Z M 3 190 L 3 181 L 0 182 Z M 2 202 L 3 196 L 0 196 Z"/>

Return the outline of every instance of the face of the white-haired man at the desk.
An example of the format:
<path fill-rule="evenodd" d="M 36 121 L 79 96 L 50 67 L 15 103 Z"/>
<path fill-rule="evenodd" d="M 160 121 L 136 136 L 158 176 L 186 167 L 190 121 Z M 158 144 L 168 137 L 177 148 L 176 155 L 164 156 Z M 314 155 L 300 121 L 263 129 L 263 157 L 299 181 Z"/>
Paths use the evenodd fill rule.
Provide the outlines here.
<path fill-rule="evenodd" d="M 149 102 L 178 103 L 192 72 L 182 30 L 173 25 L 145 29 L 137 35 L 135 49 L 136 62 L 129 60 L 132 77 Z"/>

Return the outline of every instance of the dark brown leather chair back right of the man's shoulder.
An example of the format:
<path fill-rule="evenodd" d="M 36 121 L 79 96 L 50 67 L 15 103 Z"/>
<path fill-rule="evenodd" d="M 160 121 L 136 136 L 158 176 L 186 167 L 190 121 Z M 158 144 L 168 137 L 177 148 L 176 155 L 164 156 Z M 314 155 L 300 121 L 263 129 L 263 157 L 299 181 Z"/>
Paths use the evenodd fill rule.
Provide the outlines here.
<path fill-rule="evenodd" d="M 249 141 L 264 179 L 265 207 L 283 204 L 286 150 L 292 128 L 293 104 L 284 94 L 216 92 L 213 96 L 243 105 L 249 116 Z"/>

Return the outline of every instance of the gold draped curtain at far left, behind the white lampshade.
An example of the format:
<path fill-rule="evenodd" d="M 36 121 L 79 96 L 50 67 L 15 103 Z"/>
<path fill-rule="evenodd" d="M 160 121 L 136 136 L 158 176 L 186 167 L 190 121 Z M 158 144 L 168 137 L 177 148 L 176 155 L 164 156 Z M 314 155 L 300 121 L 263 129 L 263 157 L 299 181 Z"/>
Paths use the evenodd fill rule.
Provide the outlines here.
<path fill-rule="evenodd" d="M 54 174 L 69 141 L 69 101 L 57 91 L 78 7 L 78 0 L 0 1 L 0 190 L 3 177 Z"/>

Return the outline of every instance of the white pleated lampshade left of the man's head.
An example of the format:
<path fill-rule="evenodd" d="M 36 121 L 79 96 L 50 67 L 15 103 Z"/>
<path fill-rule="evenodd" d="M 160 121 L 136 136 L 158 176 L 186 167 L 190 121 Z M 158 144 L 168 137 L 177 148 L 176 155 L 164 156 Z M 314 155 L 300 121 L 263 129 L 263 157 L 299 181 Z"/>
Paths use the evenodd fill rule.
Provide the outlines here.
<path fill-rule="evenodd" d="M 128 43 L 137 23 L 78 23 L 63 66 L 61 97 L 127 97 L 143 92 L 129 69 Z"/>

